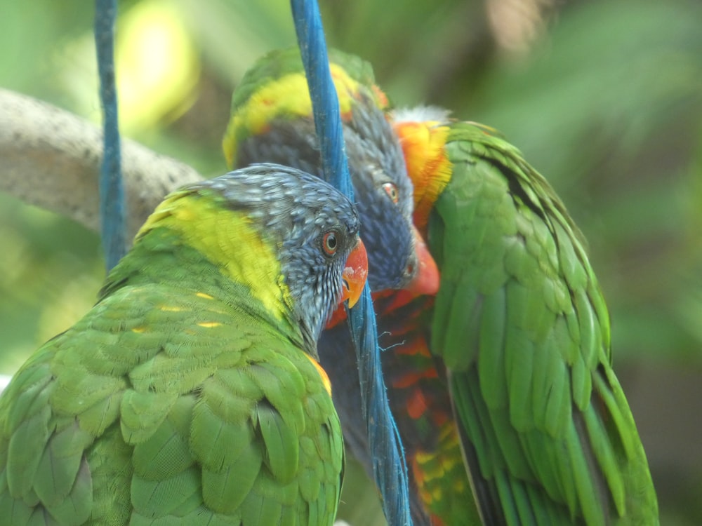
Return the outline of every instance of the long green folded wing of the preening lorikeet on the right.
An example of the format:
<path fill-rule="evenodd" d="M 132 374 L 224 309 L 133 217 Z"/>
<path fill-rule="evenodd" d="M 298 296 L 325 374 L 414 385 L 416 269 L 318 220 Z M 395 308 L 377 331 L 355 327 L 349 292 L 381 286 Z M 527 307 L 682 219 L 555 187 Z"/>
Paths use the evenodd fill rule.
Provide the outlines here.
<path fill-rule="evenodd" d="M 442 270 L 432 349 L 450 371 L 484 519 L 656 523 L 581 234 L 543 177 L 486 128 L 451 124 L 446 151 L 453 173 L 428 234 Z"/>

